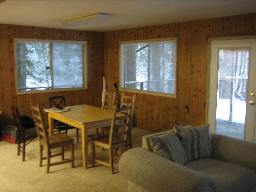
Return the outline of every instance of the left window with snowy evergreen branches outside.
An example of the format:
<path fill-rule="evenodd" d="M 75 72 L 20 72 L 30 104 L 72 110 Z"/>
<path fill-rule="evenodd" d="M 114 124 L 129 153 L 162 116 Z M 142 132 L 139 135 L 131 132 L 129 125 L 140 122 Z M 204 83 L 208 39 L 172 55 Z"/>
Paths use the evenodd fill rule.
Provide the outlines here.
<path fill-rule="evenodd" d="M 86 87 L 86 43 L 16 40 L 19 92 Z"/>

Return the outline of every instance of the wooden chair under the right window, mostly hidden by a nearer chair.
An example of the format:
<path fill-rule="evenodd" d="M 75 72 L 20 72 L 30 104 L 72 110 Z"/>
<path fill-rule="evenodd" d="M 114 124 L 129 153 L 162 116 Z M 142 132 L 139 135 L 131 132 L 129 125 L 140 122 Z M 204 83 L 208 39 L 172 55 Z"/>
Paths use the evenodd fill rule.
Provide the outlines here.
<path fill-rule="evenodd" d="M 133 126 L 133 116 L 134 116 L 134 105 L 135 105 L 135 98 L 136 95 L 133 94 L 132 96 L 122 94 L 121 97 L 121 104 L 120 104 L 120 110 L 124 108 L 131 108 L 131 120 L 129 124 L 129 133 L 128 133 L 128 146 L 129 148 L 132 148 L 132 126 Z"/>

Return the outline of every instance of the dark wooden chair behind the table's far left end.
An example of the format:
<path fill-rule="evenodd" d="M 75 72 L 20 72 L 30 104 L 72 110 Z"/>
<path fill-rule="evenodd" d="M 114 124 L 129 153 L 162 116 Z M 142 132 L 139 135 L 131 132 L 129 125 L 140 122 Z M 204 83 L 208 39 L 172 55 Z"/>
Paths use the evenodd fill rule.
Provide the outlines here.
<path fill-rule="evenodd" d="M 53 96 L 49 98 L 49 107 L 56 107 L 58 109 L 63 109 L 63 107 L 66 106 L 66 99 L 64 96 Z M 60 121 L 55 120 L 55 129 L 58 133 L 65 132 L 66 135 L 68 134 L 69 129 L 75 129 L 74 127 L 71 127 L 65 123 L 62 123 Z M 77 143 L 79 142 L 79 130 L 76 129 L 76 138 Z"/>

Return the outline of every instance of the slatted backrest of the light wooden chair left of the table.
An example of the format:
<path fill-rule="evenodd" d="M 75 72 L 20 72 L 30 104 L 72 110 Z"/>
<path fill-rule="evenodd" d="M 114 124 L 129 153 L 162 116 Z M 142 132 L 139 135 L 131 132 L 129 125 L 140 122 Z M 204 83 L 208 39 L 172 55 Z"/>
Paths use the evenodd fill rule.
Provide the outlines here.
<path fill-rule="evenodd" d="M 49 144 L 48 133 L 47 133 L 47 130 L 44 125 L 43 116 L 42 116 L 40 106 L 38 104 L 30 105 L 30 108 L 31 108 L 31 113 L 32 113 L 33 119 L 35 121 L 36 131 L 37 131 L 37 135 L 39 138 L 39 142 L 42 145 L 48 146 L 48 144 Z"/>

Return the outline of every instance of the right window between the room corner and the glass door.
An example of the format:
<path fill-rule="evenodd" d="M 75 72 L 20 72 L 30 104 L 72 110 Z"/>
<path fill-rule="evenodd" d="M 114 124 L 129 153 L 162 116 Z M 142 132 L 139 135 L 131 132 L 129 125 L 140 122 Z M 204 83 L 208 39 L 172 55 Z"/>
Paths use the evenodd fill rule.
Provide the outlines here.
<path fill-rule="evenodd" d="M 176 40 L 121 43 L 121 88 L 175 95 Z"/>

